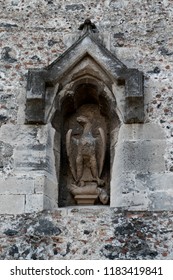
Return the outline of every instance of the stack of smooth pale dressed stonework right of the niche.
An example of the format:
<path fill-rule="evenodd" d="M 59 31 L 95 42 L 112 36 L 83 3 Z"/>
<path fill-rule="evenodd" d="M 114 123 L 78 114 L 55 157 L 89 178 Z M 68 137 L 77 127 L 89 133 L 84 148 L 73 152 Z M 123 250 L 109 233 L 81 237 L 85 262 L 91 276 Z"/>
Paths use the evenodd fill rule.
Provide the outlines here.
<path fill-rule="evenodd" d="M 171 209 L 173 177 L 165 173 L 166 140 L 160 126 L 122 125 L 115 147 L 110 205 L 131 210 Z M 154 193 L 165 203 L 155 203 Z"/>

